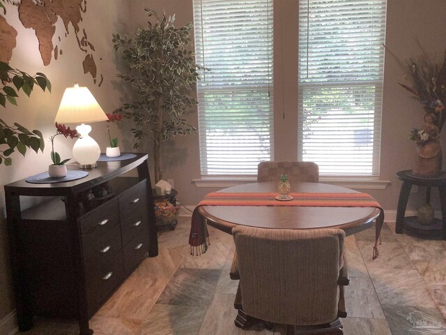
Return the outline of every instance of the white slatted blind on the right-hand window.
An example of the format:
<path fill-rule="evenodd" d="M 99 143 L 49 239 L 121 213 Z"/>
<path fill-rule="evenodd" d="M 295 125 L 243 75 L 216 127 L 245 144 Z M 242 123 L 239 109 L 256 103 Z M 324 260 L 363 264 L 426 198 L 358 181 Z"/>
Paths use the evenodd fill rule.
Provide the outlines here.
<path fill-rule="evenodd" d="M 299 153 L 378 176 L 386 0 L 299 0 Z"/>

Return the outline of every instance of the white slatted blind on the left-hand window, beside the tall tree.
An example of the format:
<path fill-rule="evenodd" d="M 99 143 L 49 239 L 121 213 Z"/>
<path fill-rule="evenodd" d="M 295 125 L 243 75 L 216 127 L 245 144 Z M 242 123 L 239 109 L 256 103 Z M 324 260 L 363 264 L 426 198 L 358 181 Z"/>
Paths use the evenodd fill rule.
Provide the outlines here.
<path fill-rule="evenodd" d="M 194 0 L 202 175 L 272 159 L 272 0 Z"/>

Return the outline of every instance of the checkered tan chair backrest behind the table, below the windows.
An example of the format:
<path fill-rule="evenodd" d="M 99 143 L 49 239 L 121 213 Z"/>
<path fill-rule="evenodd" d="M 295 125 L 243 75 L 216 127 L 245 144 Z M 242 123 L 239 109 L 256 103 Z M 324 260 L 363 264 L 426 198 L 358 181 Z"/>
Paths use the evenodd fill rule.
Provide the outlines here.
<path fill-rule="evenodd" d="M 257 167 L 257 182 L 279 181 L 287 174 L 289 181 L 319 181 L 319 167 L 313 162 L 261 162 Z"/>

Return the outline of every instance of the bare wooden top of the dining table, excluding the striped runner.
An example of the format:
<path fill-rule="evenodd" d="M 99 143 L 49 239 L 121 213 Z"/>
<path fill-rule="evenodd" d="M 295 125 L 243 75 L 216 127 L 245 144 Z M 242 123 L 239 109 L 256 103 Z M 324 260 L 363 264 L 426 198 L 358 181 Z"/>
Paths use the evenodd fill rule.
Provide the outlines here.
<path fill-rule="evenodd" d="M 359 193 L 321 183 L 290 183 L 292 193 Z M 243 184 L 224 188 L 224 193 L 271 193 L 277 192 L 276 182 Z M 318 207 L 318 206 L 210 206 L 198 208 L 206 223 L 231 234 L 236 225 L 259 228 L 315 229 L 340 228 L 346 235 L 370 228 L 378 218 L 376 207 Z"/>

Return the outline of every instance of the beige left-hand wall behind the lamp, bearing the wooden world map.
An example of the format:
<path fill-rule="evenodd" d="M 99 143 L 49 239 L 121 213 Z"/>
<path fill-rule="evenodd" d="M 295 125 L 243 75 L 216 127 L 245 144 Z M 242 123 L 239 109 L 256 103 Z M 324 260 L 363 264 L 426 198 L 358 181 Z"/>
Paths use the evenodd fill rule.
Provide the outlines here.
<path fill-rule="evenodd" d="M 72 87 L 75 82 L 80 86 L 87 86 L 93 96 L 102 106 L 105 112 L 112 112 L 122 103 L 121 84 L 116 80 L 116 64 L 119 64 L 116 53 L 112 45 L 112 33 L 125 31 L 128 20 L 128 6 L 123 6 L 123 1 L 119 0 L 95 0 L 87 1 L 87 10 L 83 14 L 83 21 L 79 26 L 85 28 L 89 42 L 95 47 L 93 55 L 98 66 L 98 77 L 100 73 L 104 76 L 104 81 L 100 87 L 93 84 L 91 75 L 84 75 L 82 61 L 84 52 L 79 50 L 73 27 L 70 24 L 68 36 L 65 36 L 63 22 L 59 19 L 56 22 L 56 34 L 53 43 L 58 43 L 63 54 L 58 60 L 52 59 L 48 66 L 43 66 L 43 61 L 38 52 L 38 42 L 32 29 L 24 29 L 17 15 L 15 6 L 7 5 L 6 20 L 8 24 L 17 30 L 17 47 L 13 50 L 13 57 L 10 66 L 20 68 L 30 74 L 42 72 L 49 77 L 52 82 L 52 93 L 43 93 L 40 89 L 35 89 L 31 98 L 20 94 L 17 103 L 18 107 L 8 105 L 6 110 L 0 107 L 0 118 L 8 124 L 18 122 L 29 129 L 39 129 L 45 138 L 45 151 L 36 154 L 30 151 L 26 157 L 14 154 L 13 165 L 6 167 L 0 165 L 0 326 L 1 320 L 8 313 L 13 311 L 13 293 L 10 280 L 9 258 L 8 258 L 8 237 L 6 233 L 4 193 L 3 185 L 17 179 L 23 179 L 32 174 L 47 170 L 51 163 L 49 157 L 50 144 L 49 137 L 54 135 L 54 117 L 61 102 L 63 91 L 66 87 Z M 81 30 L 82 31 L 82 30 Z M 58 41 L 61 36 L 61 42 Z M 100 60 L 102 58 L 102 60 Z M 105 122 L 91 125 L 92 135 L 98 141 L 100 147 L 105 151 L 107 147 L 107 127 Z M 119 135 L 118 128 L 113 125 L 115 135 Z M 71 156 L 73 140 L 65 139 L 62 136 L 56 137 L 56 150 L 61 156 L 68 158 Z M 130 150 L 131 147 L 124 148 Z M 1 333 L 1 327 L 0 327 Z"/>

